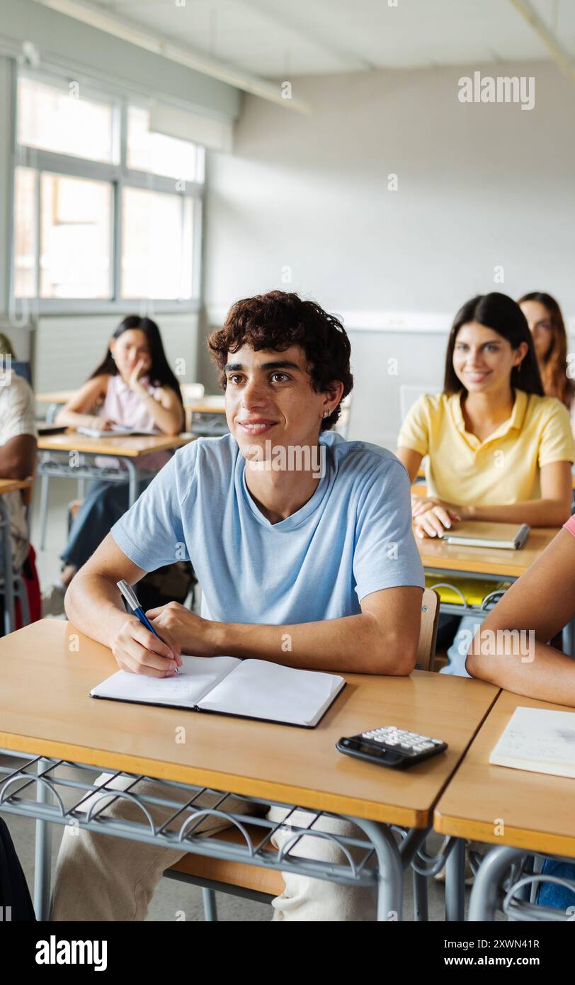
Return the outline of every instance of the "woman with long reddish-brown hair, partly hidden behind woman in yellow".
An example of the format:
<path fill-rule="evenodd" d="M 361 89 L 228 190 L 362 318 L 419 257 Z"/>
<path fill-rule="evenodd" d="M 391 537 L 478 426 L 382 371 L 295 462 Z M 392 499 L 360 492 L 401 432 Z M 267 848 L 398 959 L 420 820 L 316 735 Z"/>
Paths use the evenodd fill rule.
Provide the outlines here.
<path fill-rule="evenodd" d="M 575 434 L 575 382 L 568 375 L 567 333 L 561 309 L 554 297 L 533 291 L 517 302 L 533 336 L 543 390 L 557 397 L 569 411 Z"/>

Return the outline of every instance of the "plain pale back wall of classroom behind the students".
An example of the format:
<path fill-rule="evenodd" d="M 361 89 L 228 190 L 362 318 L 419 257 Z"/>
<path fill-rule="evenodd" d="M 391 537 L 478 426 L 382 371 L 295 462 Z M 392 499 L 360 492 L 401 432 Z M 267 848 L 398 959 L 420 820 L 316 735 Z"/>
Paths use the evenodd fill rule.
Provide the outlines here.
<path fill-rule="evenodd" d="M 461 103 L 458 80 L 477 69 L 535 76 L 535 108 Z M 233 155 L 209 155 L 208 321 L 272 288 L 342 313 L 350 435 L 393 447 L 399 388 L 440 385 L 467 298 L 546 290 L 575 314 L 575 86 L 516 62 L 309 77 L 292 93 L 312 115 L 247 97 Z M 202 371 L 213 381 L 206 359 Z"/>

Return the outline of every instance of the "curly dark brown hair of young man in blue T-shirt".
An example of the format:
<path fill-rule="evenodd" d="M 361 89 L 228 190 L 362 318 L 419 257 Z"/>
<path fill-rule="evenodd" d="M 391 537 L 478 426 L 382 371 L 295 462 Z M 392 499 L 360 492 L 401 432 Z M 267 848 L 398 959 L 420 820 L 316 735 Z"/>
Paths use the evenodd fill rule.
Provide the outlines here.
<path fill-rule="evenodd" d="M 244 297 L 232 304 L 223 328 L 208 339 L 212 360 L 220 368 L 220 385 L 225 389 L 224 366 L 228 353 L 243 345 L 255 352 L 272 349 L 283 353 L 299 346 L 305 354 L 311 384 L 317 393 L 330 388 L 333 380 L 344 384 L 344 397 L 353 386 L 350 369 L 351 344 L 339 318 L 328 314 L 315 301 L 305 301 L 286 291 L 269 291 L 267 295 Z M 334 427 L 340 407 L 321 423 L 321 430 Z"/>

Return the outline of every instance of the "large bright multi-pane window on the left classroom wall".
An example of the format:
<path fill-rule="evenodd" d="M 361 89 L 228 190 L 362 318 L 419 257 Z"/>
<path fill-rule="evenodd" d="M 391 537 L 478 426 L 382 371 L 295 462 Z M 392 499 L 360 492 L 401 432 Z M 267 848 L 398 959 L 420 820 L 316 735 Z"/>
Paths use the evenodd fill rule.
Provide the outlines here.
<path fill-rule="evenodd" d="M 16 130 L 15 298 L 52 311 L 198 301 L 202 147 L 153 132 L 144 102 L 28 70 Z"/>

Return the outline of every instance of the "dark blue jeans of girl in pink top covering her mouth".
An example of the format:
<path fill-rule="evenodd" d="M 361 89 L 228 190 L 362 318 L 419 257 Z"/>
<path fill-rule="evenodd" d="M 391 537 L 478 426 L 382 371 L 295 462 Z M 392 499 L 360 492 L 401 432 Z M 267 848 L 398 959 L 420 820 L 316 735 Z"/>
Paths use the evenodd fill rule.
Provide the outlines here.
<path fill-rule="evenodd" d="M 143 493 L 154 477 L 142 479 L 138 495 Z M 70 536 L 60 558 L 65 564 L 82 567 L 91 558 L 98 544 L 128 509 L 129 483 L 91 482 L 89 493 L 74 517 Z"/>

